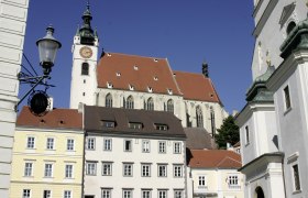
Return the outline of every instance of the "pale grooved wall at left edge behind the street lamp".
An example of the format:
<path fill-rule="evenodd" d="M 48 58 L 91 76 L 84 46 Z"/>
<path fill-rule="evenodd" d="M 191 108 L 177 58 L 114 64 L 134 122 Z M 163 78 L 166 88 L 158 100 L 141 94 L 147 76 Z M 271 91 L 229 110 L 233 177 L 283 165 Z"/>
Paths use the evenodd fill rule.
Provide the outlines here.
<path fill-rule="evenodd" d="M 29 0 L 0 1 L 0 197 L 9 197 L 18 73 L 22 59 Z"/>

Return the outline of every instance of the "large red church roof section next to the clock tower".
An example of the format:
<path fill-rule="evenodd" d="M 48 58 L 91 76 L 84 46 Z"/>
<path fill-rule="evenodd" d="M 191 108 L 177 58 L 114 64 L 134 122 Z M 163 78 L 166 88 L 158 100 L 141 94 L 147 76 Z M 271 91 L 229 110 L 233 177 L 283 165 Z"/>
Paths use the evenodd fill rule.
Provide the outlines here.
<path fill-rule="evenodd" d="M 118 75 L 117 75 L 118 74 Z M 167 59 L 134 55 L 106 53 L 97 66 L 98 87 L 147 92 L 147 87 L 155 94 L 180 95 Z"/>

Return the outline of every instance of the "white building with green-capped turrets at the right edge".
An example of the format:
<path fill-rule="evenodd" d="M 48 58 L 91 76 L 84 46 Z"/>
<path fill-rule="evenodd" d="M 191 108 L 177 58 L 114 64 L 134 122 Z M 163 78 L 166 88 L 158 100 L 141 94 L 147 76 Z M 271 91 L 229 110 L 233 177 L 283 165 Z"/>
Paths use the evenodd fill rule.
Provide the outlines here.
<path fill-rule="evenodd" d="M 254 1 L 254 84 L 237 117 L 246 197 L 308 196 L 307 3 Z"/>

